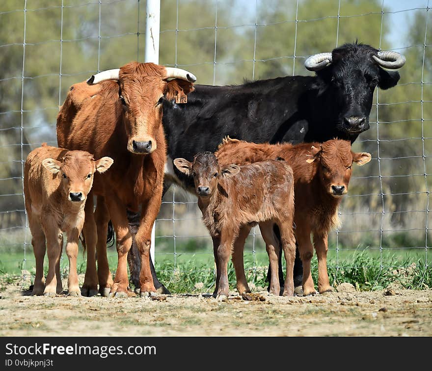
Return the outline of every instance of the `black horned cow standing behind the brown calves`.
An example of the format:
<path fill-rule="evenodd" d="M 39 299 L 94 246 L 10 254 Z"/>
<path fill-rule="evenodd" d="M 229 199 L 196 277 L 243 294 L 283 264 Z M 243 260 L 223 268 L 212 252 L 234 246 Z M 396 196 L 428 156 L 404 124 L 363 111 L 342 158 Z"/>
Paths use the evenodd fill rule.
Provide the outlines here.
<path fill-rule="evenodd" d="M 172 166 L 172 160 L 192 161 L 198 152 L 215 152 L 226 135 L 255 143 L 324 142 L 335 137 L 352 143 L 369 129 L 375 88 L 391 88 L 400 78 L 398 72 L 381 67 L 397 69 L 404 63 L 399 53 L 378 52 L 356 42 L 307 58 L 305 67 L 316 76 L 235 86 L 195 85 L 187 104 L 164 101 L 162 124 L 169 157 L 165 190 L 177 183 L 193 193 L 193 182 Z M 134 282 L 136 268 L 130 267 Z M 279 272 L 282 274 L 281 267 Z M 297 252 L 296 286 L 301 285 L 301 276 Z M 280 282 L 283 286 L 283 275 Z M 159 282 L 155 285 L 161 286 Z"/>

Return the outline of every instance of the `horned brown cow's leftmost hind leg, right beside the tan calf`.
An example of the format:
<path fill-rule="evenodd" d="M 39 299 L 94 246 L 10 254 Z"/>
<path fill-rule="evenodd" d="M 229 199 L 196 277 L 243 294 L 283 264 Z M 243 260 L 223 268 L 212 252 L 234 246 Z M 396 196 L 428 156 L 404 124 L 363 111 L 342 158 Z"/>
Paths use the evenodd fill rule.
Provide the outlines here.
<path fill-rule="evenodd" d="M 84 212 L 85 220 L 82 232 L 84 234 L 85 248 L 87 250 L 87 266 L 85 268 L 84 283 L 82 284 L 81 294 L 83 296 L 95 296 L 98 294 L 98 274 L 96 271 L 96 243 L 98 235 L 94 219 L 93 192 L 90 192 L 87 195 Z M 69 290 L 69 292 L 71 291 Z"/>

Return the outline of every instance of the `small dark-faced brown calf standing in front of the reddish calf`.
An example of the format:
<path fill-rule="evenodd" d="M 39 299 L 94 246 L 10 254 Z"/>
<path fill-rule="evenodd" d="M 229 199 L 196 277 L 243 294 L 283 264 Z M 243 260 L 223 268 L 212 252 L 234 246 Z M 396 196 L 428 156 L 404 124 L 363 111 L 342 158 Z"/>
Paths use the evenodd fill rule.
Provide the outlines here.
<path fill-rule="evenodd" d="M 285 161 L 263 161 L 239 167 L 220 166 L 211 152 L 199 153 L 193 163 L 175 159 L 181 172 L 193 177 L 198 206 L 204 224 L 213 239 L 216 261 L 216 289 L 213 296 L 228 295 L 227 265 L 234 254 L 242 265 L 236 265 L 237 290 L 250 292 L 243 268 L 244 240 L 251 227 L 259 223 L 270 259 L 270 292 L 279 295 L 279 243 L 273 234 L 276 223 L 281 231 L 282 248 L 287 263 L 284 295 L 294 294 L 294 259 L 296 242 L 293 233 L 293 170 Z M 233 256 L 233 261 L 234 261 Z"/>

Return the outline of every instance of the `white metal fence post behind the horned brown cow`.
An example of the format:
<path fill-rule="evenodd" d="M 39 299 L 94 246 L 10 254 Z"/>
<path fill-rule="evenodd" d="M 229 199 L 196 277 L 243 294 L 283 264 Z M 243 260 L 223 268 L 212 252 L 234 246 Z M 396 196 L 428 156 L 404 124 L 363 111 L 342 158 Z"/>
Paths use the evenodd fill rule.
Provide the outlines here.
<path fill-rule="evenodd" d="M 159 64 L 159 30 L 161 20 L 161 0 L 147 0 L 145 26 L 144 62 Z M 155 224 L 153 224 L 150 256 L 155 263 Z"/>

